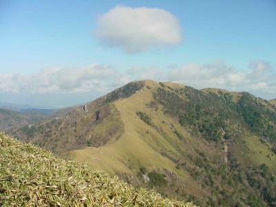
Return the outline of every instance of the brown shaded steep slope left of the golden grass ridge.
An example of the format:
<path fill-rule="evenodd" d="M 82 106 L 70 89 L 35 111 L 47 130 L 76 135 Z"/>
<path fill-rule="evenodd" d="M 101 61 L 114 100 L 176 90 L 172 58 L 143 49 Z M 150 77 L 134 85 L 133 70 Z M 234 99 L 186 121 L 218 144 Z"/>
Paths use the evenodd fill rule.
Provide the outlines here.
<path fill-rule="evenodd" d="M 102 146 L 124 131 L 120 112 L 112 101 L 132 95 L 143 82 L 133 82 L 84 106 L 59 110 L 57 117 L 12 130 L 15 137 L 56 154 L 87 146 Z"/>

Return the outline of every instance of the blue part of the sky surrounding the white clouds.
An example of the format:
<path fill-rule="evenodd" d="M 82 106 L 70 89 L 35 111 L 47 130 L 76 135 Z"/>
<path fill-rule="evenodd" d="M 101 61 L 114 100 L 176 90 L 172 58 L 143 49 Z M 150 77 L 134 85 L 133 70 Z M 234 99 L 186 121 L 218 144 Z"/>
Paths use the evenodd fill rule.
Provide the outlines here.
<path fill-rule="evenodd" d="M 179 23 L 181 41 L 177 41 L 173 46 L 152 46 L 138 52 L 126 52 L 122 48 L 124 46 L 110 46 L 110 43 L 104 43 L 106 37 L 102 39 L 96 35 L 99 30 L 98 20 L 118 5 L 127 7 L 130 12 L 141 7 L 159 8 L 169 12 Z M 158 79 L 189 83 L 196 88 L 204 88 L 207 83 L 200 86 L 198 82 L 193 83 L 186 79 L 167 78 L 170 70 L 175 72 L 195 64 L 199 72 L 209 71 L 210 69 L 206 69 L 208 66 L 215 68 L 215 71 L 225 70 L 227 73 L 233 70 L 235 74 L 244 74 L 250 73 L 250 70 L 254 71 L 259 66 L 257 64 L 262 64 L 266 73 L 269 70 L 269 75 L 266 76 L 275 75 L 276 1 L 2 0 L 0 27 L 0 74 L 2 79 L 6 77 L 6 80 L 7 77 L 14 79 L 15 73 L 26 80 L 47 68 L 75 68 L 79 71 L 91 64 L 110 66 L 120 77 L 125 77 L 125 81 L 144 77 L 141 73 L 155 72 L 154 74 L 162 74 Z M 128 75 L 133 68 L 139 72 Z M 251 77 L 248 73 L 246 79 Z M 157 79 L 156 76 L 153 78 Z M 210 75 L 208 78 L 210 79 Z M 95 92 L 91 87 L 91 98 L 112 89 L 112 86 L 122 84 L 111 84 L 112 81 L 114 80 L 108 82 L 108 88 L 101 91 Z M 250 86 L 243 84 L 234 87 L 232 83 L 215 86 L 228 90 L 248 90 L 266 99 L 276 97 L 276 93 L 273 93 L 276 83 L 272 79 L 264 77 L 254 83 L 251 81 L 248 80 Z M 264 83 L 272 92 L 264 92 L 261 90 L 262 87 L 256 89 L 257 86 L 264 86 Z M 8 101 L 9 95 L 10 99 L 16 99 L 17 95 L 30 94 L 37 97 L 36 104 L 41 105 L 44 101 L 38 97 L 51 97 L 50 94 L 55 94 L 52 96 L 55 97 L 57 93 L 64 95 L 59 102 L 54 101 L 55 98 L 52 98 L 53 101 L 49 98 L 49 106 L 77 103 L 68 101 L 68 97 L 81 97 L 81 93 L 86 97 L 89 92 L 78 90 L 70 92 L 71 95 L 68 95 L 68 91 L 34 92 L 33 83 L 32 87 L 28 87 L 30 91 L 19 90 L 21 86 L 9 87 L 17 90 L 6 90 L 8 86 L 1 88 L 0 85 L 0 98 L 5 94 L 2 96 L 5 101 Z M 268 88 L 263 87 L 263 90 Z M 78 101 L 88 100 L 80 98 Z M 24 103 L 26 102 L 28 101 Z"/>

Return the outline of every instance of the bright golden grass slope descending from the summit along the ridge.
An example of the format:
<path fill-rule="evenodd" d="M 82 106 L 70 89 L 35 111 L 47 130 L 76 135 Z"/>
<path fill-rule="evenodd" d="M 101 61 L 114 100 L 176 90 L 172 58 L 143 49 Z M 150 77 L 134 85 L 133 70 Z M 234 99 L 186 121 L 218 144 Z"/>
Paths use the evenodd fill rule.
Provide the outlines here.
<path fill-rule="evenodd" d="M 163 149 L 177 155 L 178 152 L 175 149 L 180 145 L 180 141 L 168 126 L 168 123 L 177 123 L 177 120 L 166 117 L 161 110 L 152 111 L 151 108 L 146 107 L 146 104 L 152 101 L 151 90 L 159 87 L 159 84 L 146 81 L 146 86 L 148 87 L 142 88 L 128 99 L 113 103 L 121 112 L 121 119 L 125 124 L 125 132 L 118 140 L 111 140 L 99 148 L 74 150 L 64 156 L 86 162 L 89 166 L 106 170 L 110 174 L 132 173 L 141 167 L 150 170 L 161 167 L 172 169 L 175 173 L 181 174 L 181 177 L 185 177 L 183 172 L 175 168 L 175 164 L 170 159 L 160 154 Z M 148 126 L 139 119 L 136 115 L 137 111 L 146 112 L 157 128 Z M 164 136 L 166 133 L 168 136 Z"/>

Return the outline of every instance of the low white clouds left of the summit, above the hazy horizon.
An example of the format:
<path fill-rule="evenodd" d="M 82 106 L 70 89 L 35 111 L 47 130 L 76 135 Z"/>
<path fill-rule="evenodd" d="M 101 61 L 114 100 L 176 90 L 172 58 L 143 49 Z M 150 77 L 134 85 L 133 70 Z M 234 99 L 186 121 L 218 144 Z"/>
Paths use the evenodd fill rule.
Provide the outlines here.
<path fill-rule="evenodd" d="M 127 82 L 115 68 L 92 64 L 84 68 L 47 68 L 30 76 L 0 74 L 0 92 L 106 92 Z"/>

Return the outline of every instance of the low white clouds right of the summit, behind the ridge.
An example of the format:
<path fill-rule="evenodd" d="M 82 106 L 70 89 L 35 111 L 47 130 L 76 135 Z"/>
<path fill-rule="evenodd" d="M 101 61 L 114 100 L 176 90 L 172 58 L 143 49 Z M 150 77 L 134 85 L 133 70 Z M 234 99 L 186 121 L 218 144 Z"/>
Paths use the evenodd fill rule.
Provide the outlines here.
<path fill-rule="evenodd" d="M 191 63 L 182 67 L 161 70 L 159 68 L 132 68 L 132 79 L 155 79 L 183 83 L 194 88 L 223 88 L 248 91 L 253 95 L 275 99 L 276 73 L 264 61 L 250 62 L 249 70 L 241 71 L 227 66 L 222 61 L 209 64 Z"/>

